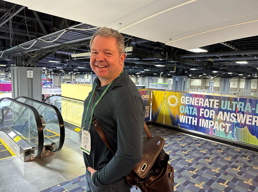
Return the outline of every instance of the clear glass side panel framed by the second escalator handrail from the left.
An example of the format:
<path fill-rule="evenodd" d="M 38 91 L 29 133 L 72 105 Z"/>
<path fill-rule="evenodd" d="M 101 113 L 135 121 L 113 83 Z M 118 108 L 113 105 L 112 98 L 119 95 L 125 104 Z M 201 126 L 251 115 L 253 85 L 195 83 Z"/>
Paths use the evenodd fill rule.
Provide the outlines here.
<path fill-rule="evenodd" d="M 53 149 L 57 148 L 60 143 L 60 135 L 61 134 L 64 135 L 64 133 L 60 133 L 60 131 L 62 131 L 62 128 L 60 130 L 60 126 L 62 126 L 63 121 L 59 122 L 57 113 L 53 109 L 53 106 L 49 106 L 45 103 L 42 103 L 39 101 L 34 101 L 34 100 L 32 100 L 30 98 L 26 98 L 26 97 L 18 97 L 18 98 L 16 98 L 16 100 L 18 100 L 22 103 L 31 105 L 36 108 L 39 115 L 41 115 L 45 121 L 45 127 L 43 129 L 44 137 L 47 138 L 52 143 L 54 143 Z M 61 144 L 61 145 L 63 145 L 63 144 Z M 61 148 L 59 148 L 59 149 L 61 149 Z"/>

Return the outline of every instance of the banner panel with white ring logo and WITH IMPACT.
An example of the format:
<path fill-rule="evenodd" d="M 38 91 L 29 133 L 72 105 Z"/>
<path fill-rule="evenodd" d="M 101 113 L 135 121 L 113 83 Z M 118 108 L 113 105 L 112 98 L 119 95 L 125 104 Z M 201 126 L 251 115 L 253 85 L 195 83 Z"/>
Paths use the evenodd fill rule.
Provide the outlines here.
<path fill-rule="evenodd" d="M 166 92 L 164 123 L 234 139 L 237 98 Z"/>

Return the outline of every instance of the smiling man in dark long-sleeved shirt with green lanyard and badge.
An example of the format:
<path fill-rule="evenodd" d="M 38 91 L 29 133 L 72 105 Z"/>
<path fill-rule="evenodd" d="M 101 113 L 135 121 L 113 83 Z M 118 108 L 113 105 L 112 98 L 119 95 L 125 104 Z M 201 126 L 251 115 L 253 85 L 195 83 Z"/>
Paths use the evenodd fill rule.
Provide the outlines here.
<path fill-rule="evenodd" d="M 84 101 L 82 119 L 85 135 L 89 134 L 91 140 L 90 151 L 83 152 L 86 191 L 130 192 L 125 176 L 142 158 L 145 107 L 138 89 L 123 70 L 123 36 L 113 29 L 100 28 L 92 36 L 90 49 L 90 65 L 97 78 Z M 95 90 L 94 102 L 90 102 Z M 115 155 L 91 125 L 91 114 Z"/>

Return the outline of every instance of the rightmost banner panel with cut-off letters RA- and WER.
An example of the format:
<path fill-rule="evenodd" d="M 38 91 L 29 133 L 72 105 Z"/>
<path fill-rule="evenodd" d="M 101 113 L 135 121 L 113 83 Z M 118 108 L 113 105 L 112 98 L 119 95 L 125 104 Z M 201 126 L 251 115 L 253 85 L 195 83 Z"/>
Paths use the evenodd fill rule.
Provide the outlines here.
<path fill-rule="evenodd" d="M 258 145 L 258 100 L 239 98 L 235 140 Z"/>

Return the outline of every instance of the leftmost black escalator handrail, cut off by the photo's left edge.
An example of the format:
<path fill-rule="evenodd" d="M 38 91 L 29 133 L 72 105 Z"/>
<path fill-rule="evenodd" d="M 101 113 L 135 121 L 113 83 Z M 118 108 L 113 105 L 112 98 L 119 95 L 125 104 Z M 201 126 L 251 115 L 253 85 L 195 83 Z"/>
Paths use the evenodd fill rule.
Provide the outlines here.
<path fill-rule="evenodd" d="M 0 102 L 2 100 L 4 100 L 4 99 L 10 100 L 10 101 L 12 101 L 14 103 L 17 103 L 17 104 L 19 104 L 19 105 L 21 105 L 23 107 L 26 107 L 26 108 L 28 108 L 32 112 L 33 116 L 35 117 L 35 123 L 36 123 L 37 130 L 38 130 L 38 150 L 37 150 L 37 153 L 34 154 L 34 155 L 31 152 L 29 152 L 29 156 L 31 156 L 31 157 L 39 156 L 42 153 L 42 151 L 43 151 L 44 132 L 43 132 L 43 126 L 42 126 L 41 118 L 39 116 L 39 113 L 38 113 L 37 109 L 35 109 L 35 107 L 33 107 L 33 106 L 27 105 L 25 103 L 19 102 L 19 101 L 15 100 L 15 99 L 12 99 L 12 98 L 9 98 L 9 97 L 1 98 Z M 8 112 L 6 111 L 6 113 L 8 113 Z"/>

